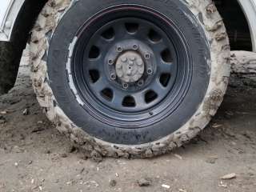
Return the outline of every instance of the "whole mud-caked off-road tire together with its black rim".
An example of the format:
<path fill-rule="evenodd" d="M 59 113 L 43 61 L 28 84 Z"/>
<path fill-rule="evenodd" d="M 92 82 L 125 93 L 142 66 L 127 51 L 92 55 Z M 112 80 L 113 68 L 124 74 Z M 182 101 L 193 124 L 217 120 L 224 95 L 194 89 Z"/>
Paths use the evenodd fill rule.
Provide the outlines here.
<path fill-rule="evenodd" d="M 138 26 L 152 25 L 150 29 L 154 34 L 152 36 L 147 31 L 146 38 L 154 46 L 150 46 L 151 42 L 144 43 L 145 35 L 139 35 L 139 27 L 136 32 L 130 31 L 133 27 L 130 30 L 126 27 L 124 40 L 113 44 L 116 50 L 106 48 L 102 51 L 92 44 L 101 39 L 97 36 L 99 33 L 105 38 L 103 34 L 109 25 L 114 31 L 108 32 L 108 35 L 114 35 L 110 39 L 118 39 L 121 36 L 117 32 L 119 28 L 115 27 L 129 21 L 138 22 Z M 126 36 L 133 33 L 138 36 L 130 44 L 130 36 Z M 130 52 L 134 43 L 139 49 L 135 47 L 136 51 Z M 162 52 L 155 48 L 160 43 L 167 47 Z M 100 47 L 103 49 L 105 44 L 100 44 Z M 142 59 L 140 64 L 133 62 L 136 67 L 145 68 L 142 74 L 136 72 L 130 78 L 126 70 L 118 70 L 118 59 L 122 60 L 122 57 L 116 45 L 122 46 L 122 57 L 131 59 L 130 54 L 135 53 L 135 58 Z M 149 53 L 149 61 L 143 53 Z M 58 130 L 88 157 L 151 158 L 182 146 L 210 122 L 222 102 L 230 75 L 230 46 L 226 29 L 211 1 L 190 0 L 185 4 L 181 0 L 80 0 L 74 3 L 50 0 L 32 30 L 30 55 L 38 102 Z M 83 63 L 98 62 L 101 55 L 107 58 L 109 65 L 100 66 L 97 73 L 90 74 L 91 70 L 87 69 L 90 65 L 83 66 Z M 119 56 L 114 58 L 114 55 Z M 108 60 L 111 57 L 116 59 L 114 68 L 111 59 Z M 158 66 L 160 61 L 172 65 L 171 75 L 166 75 L 168 89 L 162 88 L 161 78 L 166 68 Z M 100 98 L 102 92 L 94 92 L 98 91 L 98 86 L 92 87 L 104 75 L 109 77 L 106 71 L 112 73 L 113 69 L 118 77 L 107 80 L 110 81 L 108 86 L 114 86 L 105 95 L 110 97 L 106 102 Z M 94 82 L 95 76 L 98 78 Z M 148 94 L 151 90 L 143 92 L 145 101 L 137 100 L 136 93 L 153 85 L 155 80 L 151 79 L 155 77 L 160 77 L 156 79 L 162 84 L 159 92 L 152 88 L 153 94 Z M 143 79 L 143 88 L 138 87 L 138 78 Z M 126 87 L 125 84 L 129 85 Z M 122 101 L 116 102 L 113 95 L 118 95 L 119 90 L 121 94 L 129 93 L 131 96 L 122 96 Z M 155 100 L 150 100 L 152 98 Z"/>

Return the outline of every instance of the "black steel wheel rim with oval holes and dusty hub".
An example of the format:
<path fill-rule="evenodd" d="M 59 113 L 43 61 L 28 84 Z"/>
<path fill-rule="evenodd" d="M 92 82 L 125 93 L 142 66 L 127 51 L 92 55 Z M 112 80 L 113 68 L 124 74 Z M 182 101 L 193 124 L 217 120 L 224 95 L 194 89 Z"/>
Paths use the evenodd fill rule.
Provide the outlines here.
<path fill-rule="evenodd" d="M 161 14 L 138 6 L 113 7 L 87 21 L 76 35 L 71 62 L 82 106 L 125 128 L 147 126 L 172 113 L 192 74 L 186 40 L 177 29 Z"/>

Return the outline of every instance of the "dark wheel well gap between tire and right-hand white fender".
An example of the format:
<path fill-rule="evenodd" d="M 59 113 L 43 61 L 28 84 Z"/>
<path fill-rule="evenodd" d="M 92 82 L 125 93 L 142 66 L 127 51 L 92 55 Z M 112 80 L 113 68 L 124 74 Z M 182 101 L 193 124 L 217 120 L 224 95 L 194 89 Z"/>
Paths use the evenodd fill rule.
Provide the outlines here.
<path fill-rule="evenodd" d="M 214 0 L 230 38 L 231 50 L 252 51 L 250 29 L 237 0 Z"/>

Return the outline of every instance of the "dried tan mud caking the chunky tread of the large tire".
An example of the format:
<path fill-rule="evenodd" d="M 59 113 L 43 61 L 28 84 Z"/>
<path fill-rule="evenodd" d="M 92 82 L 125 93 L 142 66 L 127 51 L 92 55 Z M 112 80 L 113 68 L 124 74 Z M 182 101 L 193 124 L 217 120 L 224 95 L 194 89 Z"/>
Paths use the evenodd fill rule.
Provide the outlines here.
<path fill-rule="evenodd" d="M 198 41 L 202 41 L 202 37 L 205 38 L 205 46 L 208 47 L 208 50 L 203 50 L 202 53 L 206 54 L 209 51 L 209 58 L 206 59 L 206 55 L 201 55 L 205 57 L 205 60 L 202 62 L 207 66 L 202 71 L 207 71 L 208 74 L 201 74 L 200 70 L 197 67 L 197 63 L 194 63 L 193 70 L 194 73 L 198 73 L 198 77 L 206 78 L 206 90 L 201 91 L 203 94 L 202 101 L 198 98 L 198 103 L 195 103 L 197 106 L 194 107 L 192 104 L 190 113 L 187 114 L 189 118 L 183 118 L 179 120 L 182 122 L 181 126 L 176 127 L 174 130 L 169 130 L 168 126 L 170 125 L 169 117 L 163 119 L 161 122 L 155 122 L 154 125 L 150 125 L 151 129 L 156 131 L 156 127 L 160 127 L 159 132 L 160 134 L 158 137 L 153 137 L 152 141 L 150 138 L 147 140 L 138 140 L 135 144 L 129 142 L 122 142 L 118 140 L 118 142 L 113 142 L 113 140 L 109 138 L 104 138 L 105 136 L 101 135 L 101 137 L 95 136 L 94 132 L 90 132 L 91 128 L 103 129 L 102 125 L 104 123 L 99 121 L 98 119 L 94 119 L 91 117 L 90 121 L 86 121 L 83 125 L 80 122 L 76 122 L 74 115 L 70 114 L 70 112 L 65 108 L 64 103 L 60 102 L 61 94 L 66 95 L 65 91 L 63 92 L 62 88 L 60 88 L 60 93 L 56 92 L 56 87 L 52 89 L 53 81 L 52 81 L 52 74 L 49 67 L 50 60 L 48 54 L 53 56 L 54 51 L 50 51 L 50 45 L 54 42 L 54 31 L 58 32 L 58 27 L 62 27 L 62 19 L 65 19 L 66 13 L 69 10 L 72 10 L 77 3 L 83 2 L 90 2 L 94 3 L 94 1 L 78 1 L 78 2 L 70 2 L 67 0 L 50 0 L 46 3 L 46 6 L 43 8 L 41 14 L 38 16 L 38 20 L 32 30 L 32 37 L 30 41 L 30 61 L 32 67 L 32 80 L 34 91 L 37 95 L 38 102 L 42 109 L 46 112 L 47 117 L 50 119 L 51 122 L 57 126 L 58 130 L 66 134 L 68 138 L 70 138 L 71 142 L 74 142 L 76 146 L 84 151 L 84 153 L 88 157 L 124 157 L 124 158 L 150 158 L 159 154 L 165 154 L 173 150 L 178 146 L 182 146 L 184 143 L 190 141 L 190 138 L 194 138 L 198 134 L 200 130 L 202 130 L 212 116 L 218 110 L 218 106 L 220 106 L 222 102 L 222 98 L 226 92 L 226 86 L 228 83 L 228 78 L 230 75 L 230 65 L 229 65 L 229 58 L 230 58 L 230 46 L 226 34 L 225 26 L 222 22 L 222 18 L 218 14 L 218 10 L 214 6 L 213 2 L 211 1 L 200 1 L 200 0 L 189 0 L 186 1 L 186 4 L 183 4 L 183 1 L 134 1 L 136 4 L 140 4 L 142 6 L 151 6 L 151 7 L 167 7 L 164 9 L 165 13 L 168 13 L 169 9 L 176 9 L 181 15 L 182 8 L 178 9 L 177 5 L 182 5 L 186 7 L 186 10 L 190 11 L 190 14 L 193 16 L 190 18 L 190 22 L 196 20 L 194 23 L 195 26 L 198 27 L 199 30 L 202 29 L 202 36 L 198 37 Z M 98 3 L 100 3 L 99 1 Z M 104 5 L 102 7 L 101 4 L 93 6 L 92 10 L 94 10 L 95 6 L 98 9 L 105 9 L 106 5 L 110 5 L 113 3 L 112 6 L 118 3 L 127 3 L 127 1 L 103 1 Z M 109 4 L 108 4 L 109 3 Z M 86 3 L 85 3 L 86 5 Z M 176 8 L 175 8 L 176 5 Z M 105 7 L 104 7 L 105 6 Z M 157 9 L 157 8 L 156 8 Z M 159 11 L 159 10 L 158 10 Z M 162 10 L 161 10 L 162 12 Z M 190 16 L 191 16 L 190 15 Z M 193 26 L 192 26 L 193 27 Z M 191 28 L 192 29 L 192 28 Z M 65 32 L 63 32 L 65 33 Z M 52 40 L 52 42 L 50 42 Z M 72 39 L 70 43 L 72 42 Z M 70 45 L 70 44 L 69 44 Z M 69 53 L 69 47 L 64 47 L 63 51 L 67 51 Z M 200 49 L 200 47 L 198 48 Z M 197 50 L 195 47 L 194 50 Z M 198 50 L 200 51 L 200 50 Z M 200 54 L 198 52 L 198 54 Z M 192 55 L 193 56 L 193 55 Z M 197 57 L 194 56 L 193 57 Z M 198 56 L 199 57 L 199 56 Z M 203 57 L 202 57 L 203 58 Z M 65 58 L 67 59 L 67 58 Z M 48 66 L 47 66 L 48 62 Z M 198 62 L 200 62 L 198 60 Z M 193 62 L 192 62 L 193 63 Z M 66 62 L 65 62 L 66 65 Z M 48 68 L 47 68 L 48 67 Z M 65 66 L 66 67 L 66 66 Z M 199 67 L 199 66 L 198 66 Z M 200 68 L 200 67 L 199 67 Z M 203 68 L 203 67 L 202 67 Z M 194 76 L 192 75 L 192 79 Z M 207 80 L 208 79 L 208 80 Z M 200 79 L 198 79 L 200 80 Z M 66 81 L 68 82 L 68 81 Z M 57 85 L 60 87 L 59 85 Z M 193 82 L 192 82 L 193 86 Z M 198 85 L 194 84 L 194 87 L 197 86 L 205 86 L 204 82 L 199 82 Z M 52 88 L 51 88 L 52 87 Z M 199 87 L 198 87 L 199 88 Z M 200 87 L 201 88 L 201 87 Z M 190 88 L 191 89 L 191 88 Z M 70 91 L 70 90 L 68 90 Z M 191 90 L 186 90 L 188 93 Z M 194 90 L 197 91 L 197 90 Z M 193 92 L 193 91 L 192 91 Z M 200 92 L 200 90 L 198 90 Z M 188 94 L 186 94 L 188 95 Z M 75 97 L 74 97 L 75 98 Z M 185 97 L 186 98 L 186 97 Z M 189 98 L 187 98 L 189 99 Z M 192 101 L 194 100 L 193 98 Z M 195 98 L 197 99 L 197 98 Z M 75 99 L 74 99 L 75 100 Z M 186 100 L 186 99 L 185 99 Z M 68 102 L 66 102 L 67 104 Z M 194 104 L 194 105 L 195 105 Z M 184 103 L 183 103 L 184 105 Z M 71 107 L 72 108 L 72 107 Z M 64 110 L 63 110 L 64 109 Z M 65 112 L 64 112 L 65 111 Z M 180 113 L 186 113 L 186 108 L 183 108 Z M 87 119 L 90 117 L 90 114 L 86 114 Z M 171 115 L 170 115 L 171 116 Z M 73 121 L 72 121 L 72 120 Z M 172 121 L 173 122 L 173 121 Z M 78 126 L 79 124 L 79 126 Z M 149 126 L 149 127 L 150 127 Z M 86 130 L 89 127 L 88 130 Z M 110 129 L 116 130 L 118 128 L 107 126 Z M 163 127 L 163 128 L 162 128 Z M 146 127 L 147 128 L 147 127 Z M 161 130 L 163 129 L 163 130 Z M 86 131 L 85 131 L 86 130 Z M 122 129 L 124 130 L 124 129 Z M 167 130 L 167 132 L 166 132 Z M 106 130 L 105 130 L 106 131 Z M 130 131 L 130 130 L 129 130 Z M 98 133 L 102 132 L 98 130 Z M 104 132 L 104 131 L 103 131 Z M 134 132 L 136 132 L 134 130 Z M 157 133 L 157 132 L 155 132 Z M 162 133 L 162 134 L 161 134 Z M 168 133 L 168 134 L 166 134 Z M 120 133 L 119 133 L 120 134 Z M 141 134 L 141 133 L 140 133 Z M 157 133 L 158 134 L 158 133 Z M 164 136 L 163 136 L 164 134 Z M 135 136 L 134 136 L 135 135 Z M 137 135 L 138 136 L 138 135 Z M 143 134 L 142 134 L 143 136 Z M 121 131 L 122 137 L 122 131 Z M 136 137 L 136 134 L 133 134 L 132 137 Z M 103 138 L 103 139 L 102 139 Z M 145 136 L 146 138 L 146 136 Z M 145 142 L 146 141 L 146 142 Z"/>

